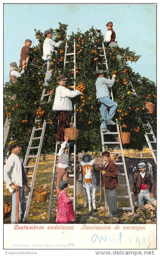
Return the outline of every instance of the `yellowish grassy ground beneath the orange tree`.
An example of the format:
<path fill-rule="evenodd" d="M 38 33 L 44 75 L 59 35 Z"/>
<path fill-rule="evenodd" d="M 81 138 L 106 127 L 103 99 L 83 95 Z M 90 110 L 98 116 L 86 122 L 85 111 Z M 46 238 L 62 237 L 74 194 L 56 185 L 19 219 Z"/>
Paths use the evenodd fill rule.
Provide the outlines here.
<path fill-rule="evenodd" d="M 125 156 L 126 151 L 124 151 Z M 139 152 L 134 152 L 129 150 L 130 157 L 140 157 Z M 151 157 L 151 154 L 148 149 L 144 149 L 143 157 Z M 48 210 L 49 210 L 49 200 L 50 200 L 50 188 L 52 181 L 52 171 L 53 171 L 53 160 L 52 155 L 46 156 L 46 160 L 43 160 L 43 156 L 40 157 L 34 193 L 32 195 L 32 200 L 29 209 L 28 222 L 29 223 L 47 223 Z M 34 162 L 35 160 L 32 160 Z M 32 162 L 30 163 L 32 165 Z M 30 173 L 29 173 L 30 174 Z M 70 180 L 72 184 L 72 180 Z M 35 190 L 39 187 L 47 185 L 48 197 L 45 202 L 36 202 L 35 201 Z M 55 192 L 56 193 L 56 192 Z M 73 190 L 68 190 L 69 196 L 73 196 Z M 117 190 L 117 195 L 125 195 L 125 188 L 121 187 Z M 100 193 L 96 194 L 96 201 L 99 201 Z M 4 183 L 4 202 L 12 203 L 12 196 L 9 193 L 9 190 L 5 188 Z M 88 208 L 84 208 L 85 198 L 83 195 L 77 195 L 77 209 L 76 209 L 76 223 L 155 223 L 156 222 L 156 207 L 149 206 L 148 204 L 143 208 L 135 209 L 135 213 L 118 211 L 118 218 L 106 217 L 106 209 L 104 204 L 104 192 L 102 189 L 101 201 L 96 203 L 97 212 L 89 213 Z M 124 201 L 119 201 L 119 207 L 127 207 L 129 205 L 124 205 Z M 57 201 L 53 202 L 53 209 L 57 208 Z M 56 211 L 51 214 L 50 223 L 56 222 Z M 4 223 L 10 223 L 10 215 L 5 218 Z"/>

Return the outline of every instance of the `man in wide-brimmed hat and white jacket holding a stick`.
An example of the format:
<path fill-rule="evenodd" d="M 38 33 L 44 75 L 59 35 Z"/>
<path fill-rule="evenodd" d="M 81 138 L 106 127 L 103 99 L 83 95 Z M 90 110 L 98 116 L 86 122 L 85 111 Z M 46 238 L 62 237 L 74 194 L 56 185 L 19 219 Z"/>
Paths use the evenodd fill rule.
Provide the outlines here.
<path fill-rule="evenodd" d="M 11 155 L 6 160 L 4 167 L 4 180 L 6 188 L 12 194 L 12 214 L 11 223 L 15 223 L 16 205 L 19 205 L 19 223 L 23 223 L 24 213 L 26 211 L 26 198 L 24 192 L 30 192 L 30 187 L 27 182 L 27 175 L 24 170 L 23 163 L 18 156 L 21 152 L 21 143 L 17 140 L 11 141 L 8 144 L 6 151 L 11 151 Z M 19 191 L 19 198 L 16 197 L 16 191 Z M 19 203 L 18 203 L 18 201 Z"/>

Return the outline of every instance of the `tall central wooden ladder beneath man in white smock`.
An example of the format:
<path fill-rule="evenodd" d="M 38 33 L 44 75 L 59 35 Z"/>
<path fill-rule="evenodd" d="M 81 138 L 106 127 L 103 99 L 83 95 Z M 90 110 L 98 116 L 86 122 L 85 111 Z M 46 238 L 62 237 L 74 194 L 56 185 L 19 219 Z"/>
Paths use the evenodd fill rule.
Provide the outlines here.
<path fill-rule="evenodd" d="M 67 53 L 67 42 L 65 46 L 65 56 L 64 56 L 64 69 L 66 67 L 66 64 L 68 63 L 67 61 L 67 56 L 73 55 L 74 56 L 74 68 L 71 71 L 74 71 L 74 86 L 71 86 L 71 88 L 74 88 L 75 90 L 75 78 L 76 78 L 76 51 L 75 51 L 75 40 L 73 41 L 74 43 L 74 52 L 73 53 Z M 74 127 L 76 128 L 76 111 L 75 111 L 75 104 L 74 104 Z M 52 209 L 52 204 L 54 200 L 58 200 L 58 197 L 53 196 L 54 189 L 56 189 L 56 186 L 54 185 L 55 182 L 55 172 L 56 172 L 56 162 L 57 162 L 57 156 L 58 156 L 58 146 L 61 145 L 61 141 L 56 142 L 56 149 L 55 149 L 55 154 L 54 154 L 54 164 L 53 164 L 53 176 L 52 176 L 52 185 L 51 185 L 51 195 L 50 195 L 50 206 L 49 206 L 49 213 L 48 213 L 48 222 L 50 221 L 51 218 L 51 213 L 55 211 L 55 209 Z M 68 143 L 70 145 L 70 143 Z M 72 144 L 73 145 L 73 144 Z M 76 141 L 74 142 L 74 174 L 69 174 L 69 177 L 73 177 L 73 186 L 69 186 L 69 188 L 73 189 L 73 197 L 70 197 L 71 200 L 73 200 L 73 208 L 74 211 L 76 209 Z"/>

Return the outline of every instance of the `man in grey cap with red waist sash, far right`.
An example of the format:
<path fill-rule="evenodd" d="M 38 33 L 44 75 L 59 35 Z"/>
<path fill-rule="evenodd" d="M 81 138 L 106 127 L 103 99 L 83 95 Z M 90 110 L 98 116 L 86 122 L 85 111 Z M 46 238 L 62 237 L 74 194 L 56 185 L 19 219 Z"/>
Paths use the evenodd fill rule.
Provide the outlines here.
<path fill-rule="evenodd" d="M 138 169 L 139 171 L 134 173 L 132 191 L 134 195 L 138 196 L 138 205 L 143 207 L 144 200 L 147 200 L 148 204 L 155 201 L 153 197 L 155 193 L 155 183 L 151 173 L 146 171 L 146 164 L 144 162 L 138 164 Z"/>

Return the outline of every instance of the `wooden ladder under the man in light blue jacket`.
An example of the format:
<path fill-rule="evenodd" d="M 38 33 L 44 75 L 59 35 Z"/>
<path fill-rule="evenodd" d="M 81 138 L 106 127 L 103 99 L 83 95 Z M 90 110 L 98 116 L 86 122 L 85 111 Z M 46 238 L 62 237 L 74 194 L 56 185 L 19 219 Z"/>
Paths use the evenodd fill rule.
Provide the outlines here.
<path fill-rule="evenodd" d="M 102 48 L 99 47 L 98 49 L 103 49 L 103 55 L 100 54 L 100 56 L 103 56 L 105 59 L 104 64 L 106 64 L 106 69 L 108 69 L 108 63 L 107 63 L 107 57 L 106 57 L 106 52 L 105 52 L 105 48 L 104 48 L 104 43 L 102 43 Z M 114 100 L 113 97 L 113 93 L 112 93 L 112 89 L 111 89 L 111 98 L 112 100 Z M 124 199 L 129 199 L 129 203 L 130 203 L 130 207 L 117 207 L 118 209 L 121 210 L 130 210 L 132 211 L 132 213 L 134 213 L 134 207 L 133 207 L 133 202 L 132 202 L 132 196 L 131 196 L 131 191 L 130 191 L 130 186 L 129 186 L 129 180 L 128 180 L 128 174 L 127 174 L 127 169 L 126 169 L 126 164 L 125 164 L 125 159 L 124 159 L 124 154 L 123 154 L 123 146 L 122 146 L 122 141 L 121 141 L 121 135 L 119 132 L 119 126 L 118 126 L 118 122 L 116 120 L 116 127 L 117 127 L 117 132 L 109 132 L 109 133 L 102 133 L 102 129 L 101 129 L 101 141 L 102 141 L 102 151 L 104 152 L 105 150 L 105 145 L 119 145 L 120 148 L 120 153 L 119 152 L 110 152 L 110 154 L 121 154 L 122 156 L 122 163 L 115 163 L 116 165 L 121 165 L 124 168 L 124 173 L 118 173 L 118 176 L 125 176 L 125 180 L 126 180 L 126 184 L 119 184 L 120 186 L 126 186 L 127 190 L 128 190 L 128 195 L 122 195 L 122 196 L 117 196 L 117 198 L 124 198 Z M 115 137 L 118 135 L 118 141 L 104 141 L 104 135 L 115 135 Z"/>

